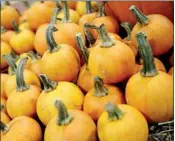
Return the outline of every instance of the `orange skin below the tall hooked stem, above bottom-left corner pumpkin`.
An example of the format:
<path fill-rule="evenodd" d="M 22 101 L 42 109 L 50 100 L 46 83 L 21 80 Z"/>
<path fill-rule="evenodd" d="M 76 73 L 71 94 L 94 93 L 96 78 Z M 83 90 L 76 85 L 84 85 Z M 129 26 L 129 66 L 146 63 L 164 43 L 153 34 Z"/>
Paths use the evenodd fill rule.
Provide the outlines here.
<path fill-rule="evenodd" d="M 7 99 L 6 107 L 8 115 L 14 119 L 18 116 L 36 116 L 36 102 L 41 94 L 41 89 L 30 85 L 26 91 L 14 90 Z"/>

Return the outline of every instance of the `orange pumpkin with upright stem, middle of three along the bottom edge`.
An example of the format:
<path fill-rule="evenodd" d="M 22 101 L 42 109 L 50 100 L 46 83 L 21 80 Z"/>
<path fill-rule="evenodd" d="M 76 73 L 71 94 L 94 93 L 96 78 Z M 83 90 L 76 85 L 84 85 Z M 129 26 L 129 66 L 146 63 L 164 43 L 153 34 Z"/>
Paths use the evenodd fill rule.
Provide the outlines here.
<path fill-rule="evenodd" d="M 67 110 L 60 100 L 55 101 L 58 116 L 52 118 L 45 129 L 45 141 L 97 141 L 93 120 L 79 110 Z M 76 130 L 75 130 L 76 129 Z"/>

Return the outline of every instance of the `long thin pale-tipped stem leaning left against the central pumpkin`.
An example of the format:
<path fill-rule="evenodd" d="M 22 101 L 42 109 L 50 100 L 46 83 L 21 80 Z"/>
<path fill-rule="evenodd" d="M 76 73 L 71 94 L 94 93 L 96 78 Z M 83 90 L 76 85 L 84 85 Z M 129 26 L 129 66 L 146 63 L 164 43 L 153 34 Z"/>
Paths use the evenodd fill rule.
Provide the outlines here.
<path fill-rule="evenodd" d="M 83 59 L 84 59 L 85 63 L 88 64 L 89 51 L 86 48 L 86 45 L 85 45 L 85 42 L 83 40 L 81 33 L 76 34 L 76 41 L 77 41 L 79 49 L 81 50 L 81 52 L 83 54 Z"/>

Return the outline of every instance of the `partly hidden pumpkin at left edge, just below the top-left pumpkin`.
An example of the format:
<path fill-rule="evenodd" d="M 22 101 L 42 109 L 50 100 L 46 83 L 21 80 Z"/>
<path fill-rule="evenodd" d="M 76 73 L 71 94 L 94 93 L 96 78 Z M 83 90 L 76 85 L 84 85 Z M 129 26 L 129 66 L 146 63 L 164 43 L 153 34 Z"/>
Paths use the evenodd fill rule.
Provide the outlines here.
<path fill-rule="evenodd" d="M 4 41 L 9 44 L 10 38 L 14 34 L 14 31 L 7 30 L 5 27 L 1 26 L 1 41 Z"/>

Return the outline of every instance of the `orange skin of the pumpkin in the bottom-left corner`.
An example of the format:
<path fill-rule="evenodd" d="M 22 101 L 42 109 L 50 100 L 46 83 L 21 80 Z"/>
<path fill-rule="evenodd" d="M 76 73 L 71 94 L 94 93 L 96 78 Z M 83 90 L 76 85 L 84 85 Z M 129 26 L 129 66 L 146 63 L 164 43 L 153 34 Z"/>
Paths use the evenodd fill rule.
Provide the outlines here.
<path fill-rule="evenodd" d="M 40 125 L 30 117 L 17 117 L 8 126 L 9 131 L 7 133 L 1 132 L 2 141 L 41 141 L 42 139 Z"/>

